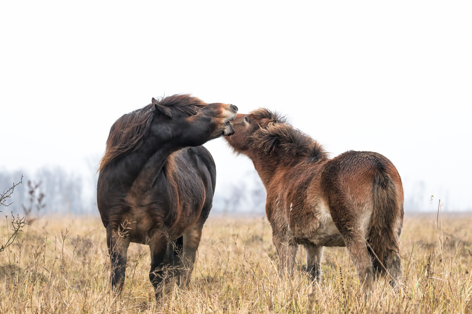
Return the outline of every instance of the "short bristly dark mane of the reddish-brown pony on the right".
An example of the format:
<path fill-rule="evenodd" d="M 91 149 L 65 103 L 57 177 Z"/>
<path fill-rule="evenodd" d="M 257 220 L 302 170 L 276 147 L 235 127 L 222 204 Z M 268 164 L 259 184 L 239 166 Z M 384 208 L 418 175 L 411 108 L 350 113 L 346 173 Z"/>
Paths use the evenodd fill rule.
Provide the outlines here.
<path fill-rule="evenodd" d="M 297 157 L 306 158 L 307 162 L 318 162 L 328 158 L 328 153 L 320 143 L 295 129 L 277 112 L 260 108 L 251 112 L 251 115 L 259 120 L 271 120 L 255 132 L 254 147 L 268 154 L 277 154 L 284 163 L 290 163 Z"/>

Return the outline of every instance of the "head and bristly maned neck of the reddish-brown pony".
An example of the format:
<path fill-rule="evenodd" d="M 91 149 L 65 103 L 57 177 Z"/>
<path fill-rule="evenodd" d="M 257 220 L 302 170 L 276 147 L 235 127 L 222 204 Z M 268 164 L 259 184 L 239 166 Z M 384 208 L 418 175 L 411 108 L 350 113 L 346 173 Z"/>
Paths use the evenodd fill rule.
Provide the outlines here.
<path fill-rule="evenodd" d="M 327 158 L 319 143 L 292 127 L 285 117 L 266 108 L 237 114 L 233 128 L 235 134 L 224 139 L 235 153 L 250 158 L 270 155 L 283 163 L 299 158 L 310 162 Z"/>

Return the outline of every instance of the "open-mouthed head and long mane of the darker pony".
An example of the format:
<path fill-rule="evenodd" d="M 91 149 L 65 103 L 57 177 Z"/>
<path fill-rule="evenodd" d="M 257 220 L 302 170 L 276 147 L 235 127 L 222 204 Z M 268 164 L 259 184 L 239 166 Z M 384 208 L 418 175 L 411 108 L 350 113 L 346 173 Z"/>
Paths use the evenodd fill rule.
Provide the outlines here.
<path fill-rule="evenodd" d="M 100 169 L 119 155 L 140 147 L 153 149 L 199 146 L 235 130 L 229 121 L 237 107 L 230 104 L 207 104 L 189 94 L 152 98 L 151 104 L 121 116 L 110 129 Z M 149 146 L 149 147 L 148 147 Z"/>

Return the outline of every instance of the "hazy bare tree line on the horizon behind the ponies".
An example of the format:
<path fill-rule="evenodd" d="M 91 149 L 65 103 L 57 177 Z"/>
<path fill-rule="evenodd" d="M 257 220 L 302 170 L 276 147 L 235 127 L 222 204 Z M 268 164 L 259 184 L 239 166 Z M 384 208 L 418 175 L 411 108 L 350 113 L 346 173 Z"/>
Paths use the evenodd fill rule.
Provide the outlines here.
<path fill-rule="evenodd" d="M 0 170 L 0 188 L 9 188 L 23 175 L 23 184 L 10 195 L 8 210 L 28 219 L 45 213 L 69 212 L 96 214 L 96 180 L 94 167 L 90 174 L 77 175 L 62 168 L 41 168 L 34 173 Z M 405 189 L 405 211 L 429 210 L 430 193 L 424 181 L 415 181 Z M 406 185 L 405 185 L 406 187 Z M 246 213 L 263 215 L 265 188 L 255 170 L 247 171 L 236 182 L 217 188 L 212 213 Z"/>

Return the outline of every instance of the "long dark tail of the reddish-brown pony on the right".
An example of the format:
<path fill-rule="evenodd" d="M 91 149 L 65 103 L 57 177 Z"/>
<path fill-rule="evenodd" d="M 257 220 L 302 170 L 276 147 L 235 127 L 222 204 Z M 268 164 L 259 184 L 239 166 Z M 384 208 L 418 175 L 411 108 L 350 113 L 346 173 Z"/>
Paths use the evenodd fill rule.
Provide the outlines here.
<path fill-rule="evenodd" d="M 374 180 L 374 209 L 367 242 L 377 274 L 387 271 L 393 278 L 401 273 L 399 256 L 399 231 L 401 206 L 396 185 L 384 170 L 378 170 Z M 400 226 L 401 228 L 401 226 Z"/>

